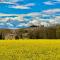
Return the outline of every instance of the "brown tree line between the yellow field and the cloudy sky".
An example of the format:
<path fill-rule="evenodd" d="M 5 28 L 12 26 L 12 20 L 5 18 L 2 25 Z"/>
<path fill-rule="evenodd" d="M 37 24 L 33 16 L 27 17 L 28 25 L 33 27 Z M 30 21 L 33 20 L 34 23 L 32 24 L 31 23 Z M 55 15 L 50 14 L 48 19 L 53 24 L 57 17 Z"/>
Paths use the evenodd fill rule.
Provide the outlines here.
<path fill-rule="evenodd" d="M 0 29 L 0 39 L 60 39 L 60 25 L 22 29 Z"/>

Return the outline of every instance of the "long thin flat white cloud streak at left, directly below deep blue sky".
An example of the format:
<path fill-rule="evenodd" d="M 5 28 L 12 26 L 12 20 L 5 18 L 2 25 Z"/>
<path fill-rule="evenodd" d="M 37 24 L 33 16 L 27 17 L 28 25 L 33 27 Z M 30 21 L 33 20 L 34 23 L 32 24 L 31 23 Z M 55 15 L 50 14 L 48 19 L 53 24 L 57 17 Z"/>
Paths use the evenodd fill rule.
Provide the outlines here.
<path fill-rule="evenodd" d="M 28 14 L 4 14 L 4 13 L 0 13 L 0 16 L 20 16 L 20 17 L 24 17 L 24 16 L 40 16 L 41 13 L 39 12 L 32 12 L 32 13 L 28 13 Z"/>

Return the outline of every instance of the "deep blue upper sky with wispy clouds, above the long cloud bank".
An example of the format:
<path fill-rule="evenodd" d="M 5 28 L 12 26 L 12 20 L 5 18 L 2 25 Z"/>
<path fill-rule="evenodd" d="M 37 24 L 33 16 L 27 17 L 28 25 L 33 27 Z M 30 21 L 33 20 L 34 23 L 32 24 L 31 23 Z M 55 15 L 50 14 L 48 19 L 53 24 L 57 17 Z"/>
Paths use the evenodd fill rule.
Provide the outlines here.
<path fill-rule="evenodd" d="M 0 3 L 0 13 L 27 14 L 31 12 L 42 12 L 43 10 L 60 8 L 59 2 L 59 0 L 2 0 Z M 28 6 L 29 4 L 31 4 L 31 6 Z M 18 6 L 22 7 L 14 8 Z"/>

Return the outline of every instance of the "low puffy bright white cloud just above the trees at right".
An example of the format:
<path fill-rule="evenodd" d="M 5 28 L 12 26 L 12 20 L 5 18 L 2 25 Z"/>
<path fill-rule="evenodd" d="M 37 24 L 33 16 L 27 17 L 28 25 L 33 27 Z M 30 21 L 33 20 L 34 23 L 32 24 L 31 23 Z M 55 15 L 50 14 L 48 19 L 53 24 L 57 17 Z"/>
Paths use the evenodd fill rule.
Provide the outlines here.
<path fill-rule="evenodd" d="M 29 26 L 35 25 L 35 26 L 41 26 L 43 25 L 44 27 L 49 27 L 49 26 L 55 26 L 57 24 L 60 24 L 60 16 L 55 17 L 54 19 L 48 19 L 46 21 L 46 19 L 38 19 L 35 20 L 33 19 L 32 21 L 29 22 Z"/>

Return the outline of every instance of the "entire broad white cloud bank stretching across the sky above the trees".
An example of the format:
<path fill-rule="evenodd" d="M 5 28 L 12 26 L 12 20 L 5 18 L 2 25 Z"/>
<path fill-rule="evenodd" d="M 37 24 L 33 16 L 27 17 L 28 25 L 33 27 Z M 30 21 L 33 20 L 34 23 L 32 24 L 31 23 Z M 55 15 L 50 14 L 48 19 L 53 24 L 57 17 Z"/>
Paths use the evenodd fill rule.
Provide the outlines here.
<path fill-rule="evenodd" d="M 53 13 L 60 11 L 58 9 L 56 9 L 56 10 L 53 9 L 53 10 L 54 10 Z M 28 18 L 25 19 L 24 17 L 25 16 L 31 16 L 32 19 L 29 20 L 27 23 L 20 23 L 20 24 L 16 25 L 15 27 L 17 27 L 17 28 L 19 28 L 19 27 L 28 27 L 28 26 L 31 26 L 31 25 L 35 25 L 35 26 L 44 25 L 45 27 L 47 27 L 47 26 L 60 24 L 60 16 L 55 16 L 54 18 L 48 18 L 48 19 L 43 18 L 43 17 L 46 17 L 46 16 L 50 16 L 50 14 L 53 14 L 53 13 L 51 13 L 51 11 L 52 10 L 43 11 L 43 14 L 42 13 L 38 13 L 38 12 L 29 13 L 29 14 L 2 14 L 1 13 L 2 16 L 16 16 L 16 17 L 0 18 L 0 21 L 7 22 L 8 20 L 18 20 L 20 22 L 25 22 L 26 19 L 28 19 Z M 45 14 L 46 12 L 48 13 L 47 15 Z M 41 18 L 41 16 L 42 16 L 42 18 Z M 13 26 L 13 25 L 8 23 L 8 26 Z"/>

